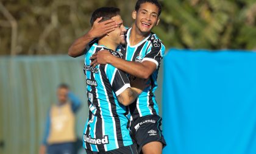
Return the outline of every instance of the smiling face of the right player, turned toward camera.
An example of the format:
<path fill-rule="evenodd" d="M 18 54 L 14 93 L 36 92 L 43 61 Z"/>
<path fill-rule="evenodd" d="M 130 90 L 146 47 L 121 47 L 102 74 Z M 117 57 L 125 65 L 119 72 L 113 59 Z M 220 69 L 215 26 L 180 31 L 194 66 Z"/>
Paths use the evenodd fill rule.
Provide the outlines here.
<path fill-rule="evenodd" d="M 158 7 L 150 2 L 140 5 L 138 12 L 132 12 L 132 18 L 135 19 L 135 26 L 142 33 L 149 33 L 159 23 Z"/>

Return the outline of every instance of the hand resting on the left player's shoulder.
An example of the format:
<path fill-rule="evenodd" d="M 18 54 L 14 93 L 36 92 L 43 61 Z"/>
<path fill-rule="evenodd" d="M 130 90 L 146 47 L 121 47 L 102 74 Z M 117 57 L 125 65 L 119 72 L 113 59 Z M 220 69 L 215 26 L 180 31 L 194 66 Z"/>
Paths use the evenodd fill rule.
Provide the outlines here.
<path fill-rule="evenodd" d="M 91 60 L 90 65 L 95 68 L 99 64 L 107 64 L 108 60 L 110 60 L 110 58 L 112 58 L 112 56 L 113 55 L 110 54 L 110 52 L 107 51 L 107 50 L 99 51 L 99 52 L 91 55 L 91 57 L 90 57 L 90 60 Z"/>

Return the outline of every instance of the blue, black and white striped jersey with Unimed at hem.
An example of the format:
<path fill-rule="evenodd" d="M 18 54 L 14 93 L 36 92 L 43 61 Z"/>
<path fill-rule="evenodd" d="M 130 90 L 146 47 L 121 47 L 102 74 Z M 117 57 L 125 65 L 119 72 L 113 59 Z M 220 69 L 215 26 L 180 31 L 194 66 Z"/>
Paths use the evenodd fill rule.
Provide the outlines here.
<path fill-rule="evenodd" d="M 129 108 L 117 96 L 130 87 L 125 72 L 112 65 L 90 66 L 90 57 L 107 49 L 94 43 L 85 54 L 84 73 L 87 82 L 89 116 L 84 128 L 83 146 L 94 152 L 105 152 L 132 145 L 129 131 Z M 116 57 L 118 52 L 107 49 Z"/>

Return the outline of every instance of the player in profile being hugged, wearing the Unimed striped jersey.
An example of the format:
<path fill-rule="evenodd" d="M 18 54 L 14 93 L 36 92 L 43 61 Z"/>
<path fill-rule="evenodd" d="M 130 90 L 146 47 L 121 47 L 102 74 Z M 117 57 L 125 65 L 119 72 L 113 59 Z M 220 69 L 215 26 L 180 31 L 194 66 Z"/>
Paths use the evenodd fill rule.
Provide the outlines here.
<path fill-rule="evenodd" d="M 126 73 L 112 65 L 90 66 L 91 55 L 102 50 L 121 59 L 115 50 L 124 41 L 126 29 L 119 9 L 102 7 L 95 10 L 91 24 L 101 16 L 99 22 L 115 19 L 118 26 L 92 44 L 85 55 L 89 116 L 84 129 L 84 147 L 87 153 L 137 153 L 137 146 L 129 135 L 129 108 L 126 106 L 146 88 L 146 81 L 135 79 L 129 82 Z"/>

